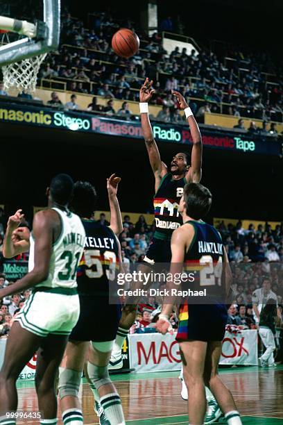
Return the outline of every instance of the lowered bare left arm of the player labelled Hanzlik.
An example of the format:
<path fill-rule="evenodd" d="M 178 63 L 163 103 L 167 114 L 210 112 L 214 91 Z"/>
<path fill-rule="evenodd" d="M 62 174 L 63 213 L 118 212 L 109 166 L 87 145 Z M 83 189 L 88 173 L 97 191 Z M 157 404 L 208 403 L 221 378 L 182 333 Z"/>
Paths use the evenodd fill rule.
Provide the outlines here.
<path fill-rule="evenodd" d="M 172 233 L 171 238 L 171 267 L 170 267 L 170 276 L 175 276 L 175 274 L 182 273 L 185 259 L 185 252 L 189 249 L 191 241 L 194 238 L 194 226 L 186 226 L 187 228 L 178 228 Z M 173 297 L 171 290 L 177 288 L 174 283 L 174 278 L 167 280 L 166 290 L 168 290 L 169 295 L 164 297 L 164 303 L 160 313 L 160 319 L 157 321 L 157 331 L 165 334 L 169 328 L 169 316 L 172 313 L 173 306 L 175 304 L 175 298 Z"/>

